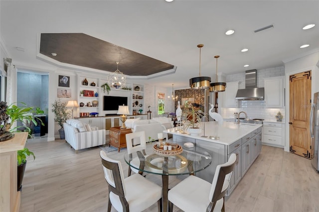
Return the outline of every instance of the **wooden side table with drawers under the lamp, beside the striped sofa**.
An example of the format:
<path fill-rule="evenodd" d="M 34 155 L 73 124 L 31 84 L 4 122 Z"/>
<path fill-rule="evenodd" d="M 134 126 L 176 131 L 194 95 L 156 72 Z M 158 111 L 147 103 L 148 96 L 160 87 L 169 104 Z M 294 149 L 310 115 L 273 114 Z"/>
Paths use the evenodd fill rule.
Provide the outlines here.
<path fill-rule="evenodd" d="M 125 135 L 131 133 L 131 128 L 121 129 L 119 126 L 110 128 L 110 143 L 109 146 L 112 145 L 116 148 L 120 149 L 126 147 L 126 138 Z"/>

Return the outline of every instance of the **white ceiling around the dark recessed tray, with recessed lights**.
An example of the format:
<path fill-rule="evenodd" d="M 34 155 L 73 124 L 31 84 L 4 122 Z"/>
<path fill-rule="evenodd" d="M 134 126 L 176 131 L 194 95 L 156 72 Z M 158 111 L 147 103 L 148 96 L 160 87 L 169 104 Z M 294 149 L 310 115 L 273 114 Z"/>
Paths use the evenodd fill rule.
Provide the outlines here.
<path fill-rule="evenodd" d="M 316 26 L 302 30 L 309 23 Z M 271 24 L 274 28 L 254 33 Z M 226 36 L 227 29 L 235 34 Z M 0 34 L 13 64 L 53 67 L 36 57 L 37 36 L 62 32 L 85 33 L 175 65 L 174 74 L 148 83 L 181 88 L 198 76 L 200 43 L 201 76 L 213 81 L 215 55 L 218 73 L 227 75 L 283 66 L 319 51 L 319 0 L 0 1 Z M 310 47 L 301 49 L 302 44 Z"/>

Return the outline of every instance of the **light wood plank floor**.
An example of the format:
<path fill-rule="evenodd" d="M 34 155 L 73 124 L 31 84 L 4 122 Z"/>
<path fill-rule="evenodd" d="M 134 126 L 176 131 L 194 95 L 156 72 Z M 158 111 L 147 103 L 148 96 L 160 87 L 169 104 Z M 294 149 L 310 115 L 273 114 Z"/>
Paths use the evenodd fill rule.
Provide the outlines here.
<path fill-rule="evenodd" d="M 102 171 L 100 148 L 75 154 L 63 140 L 29 139 L 34 152 L 23 179 L 20 212 L 105 212 L 108 189 Z M 121 160 L 123 151 L 108 153 Z M 161 185 L 160 176 L 147 178 Z M 169 187 L 179 180 L 169 178 Z M 319 174 L 310 160 L 263 146 L 262 152 L 225 201 L 226 212 L 319 212 Z M 112 208 L 112 211 L 115 211 Z M 155 204 L 150 212 L 157 212 Z M 180 210 L 174 207 L 174 212 Z"/>

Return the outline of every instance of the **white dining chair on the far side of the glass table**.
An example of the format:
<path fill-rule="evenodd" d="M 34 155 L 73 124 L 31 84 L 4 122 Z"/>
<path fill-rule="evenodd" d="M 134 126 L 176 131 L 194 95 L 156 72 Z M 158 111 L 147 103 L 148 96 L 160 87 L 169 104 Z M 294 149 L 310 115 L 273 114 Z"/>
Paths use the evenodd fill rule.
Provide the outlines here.
<path fill-rule="evenodd" d="M 125 137 L 126 137 L 126 147 L 128 150 L 128 154 L 130 155 L 130 163 L 135 167 L 140 167 L 141 169 L 143 169 L 144 168 L 144 159 L 148 156 L 145 152 L 145 150 L 146 150 L 145 132 L 144 131 L 132 132 L 132 133 L 126 134 Z M 139 140 L 139 144 L 134 143 L 134 140 L 135 141 Z M 142 159 L 141 159 L 141 157 L 142 157 Z M 143 159 L 143 157 L 144 157 L 144 159 Z M 145 173 L 143 174 L 142 171 L 135 169 L 135 168 L 131 168 L 131 166 L 129 166 L 128 176 L 131 176 L 132 170 L 135 173 L 139 173 L 141 175 L 146 175 Z"/>

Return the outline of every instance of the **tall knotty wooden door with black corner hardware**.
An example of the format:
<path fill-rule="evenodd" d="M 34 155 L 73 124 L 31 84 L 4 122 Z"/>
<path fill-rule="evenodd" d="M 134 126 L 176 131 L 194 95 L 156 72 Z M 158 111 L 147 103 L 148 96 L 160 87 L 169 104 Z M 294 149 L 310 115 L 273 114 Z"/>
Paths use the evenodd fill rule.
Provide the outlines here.
<path fill-rule="evenodd" d="M 309 134 L 311 71 L 291 75 L 289 79 L 290 152 L 311 159 L 314 155 Z"/>

